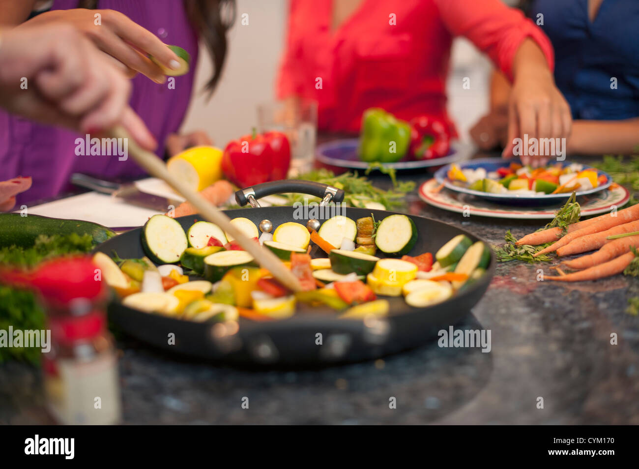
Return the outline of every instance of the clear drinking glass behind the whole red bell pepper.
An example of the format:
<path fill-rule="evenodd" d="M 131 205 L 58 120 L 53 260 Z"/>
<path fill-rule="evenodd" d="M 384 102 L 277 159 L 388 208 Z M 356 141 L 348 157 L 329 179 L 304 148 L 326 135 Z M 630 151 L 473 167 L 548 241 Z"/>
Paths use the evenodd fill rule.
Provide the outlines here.
<path fill-rule="evenodd" d="M 277 130 L 288 137 L 291 144 L 289 177 L 295 178 L 312 169 L 318 127 L 316 101 L 290 98 L 260 104 L 258 127 L 259 132 Z"/>

